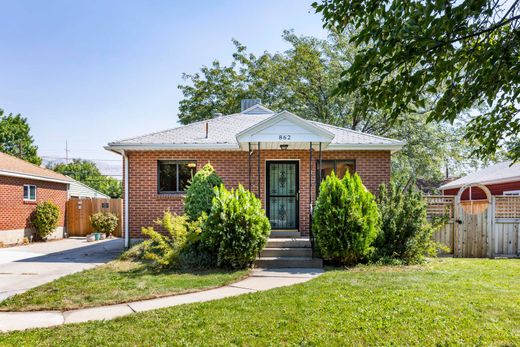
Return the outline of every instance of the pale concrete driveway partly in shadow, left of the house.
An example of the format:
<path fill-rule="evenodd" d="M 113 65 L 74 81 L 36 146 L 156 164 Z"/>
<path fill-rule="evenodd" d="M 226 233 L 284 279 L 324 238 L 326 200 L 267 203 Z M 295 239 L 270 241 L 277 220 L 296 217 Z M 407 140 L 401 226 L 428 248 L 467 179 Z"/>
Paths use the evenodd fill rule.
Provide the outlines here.
<path fill-rule="evenodd" d="M 0 301 L 56 278 L 104 264 L 123 251 L 122 239 L 83 237 L 0 249 Z"/>

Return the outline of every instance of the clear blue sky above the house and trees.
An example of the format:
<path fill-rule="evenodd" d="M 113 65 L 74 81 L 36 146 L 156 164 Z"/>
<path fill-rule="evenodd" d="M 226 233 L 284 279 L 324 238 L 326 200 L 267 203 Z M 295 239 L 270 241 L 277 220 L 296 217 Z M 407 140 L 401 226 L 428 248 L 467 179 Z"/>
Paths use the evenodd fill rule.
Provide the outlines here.
<path fill-rule="evenodd" d="M 0 108 L 29 119 L 42 156 L 119 159 L 107 142 L 177 125 L 183 72 L 325 37 L 312 1 L 0 0 Z M 108 161 L 107 161 L 108 163 Z"/>

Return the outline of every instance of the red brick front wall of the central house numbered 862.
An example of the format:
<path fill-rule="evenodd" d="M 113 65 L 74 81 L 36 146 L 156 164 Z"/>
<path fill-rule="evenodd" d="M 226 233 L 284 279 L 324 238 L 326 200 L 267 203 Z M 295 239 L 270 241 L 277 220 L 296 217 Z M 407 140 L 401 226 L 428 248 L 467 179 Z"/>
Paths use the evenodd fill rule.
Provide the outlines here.
<path fill-rule="evenodd" d="M 207 162 L 215 168 L 231 188 L 242 183 L 249 187 L 248 155 L 246 151 L 133 151 L 127 152 L 129 163 L 129 227 L 131 237 L 140 237 L 143 226 L 151 226 L 153 221 L 166 209 L 182 213 L 182 195 L 159 195 L 157 193 L 158 160 L 196 160 L 197 169 Z M 299 160 L 300 164 L 300 231 L 309 232 L 309 151 L 308 150 L 261 150 L 260 151 L 260 198 L 265 206 L 265 170 L 267 160 Z M 318 152 L 313 153 L 312 199 L 315 193 L 315 160 Z M 390 180 L 389 151 L 331 151 L 323 152 L 322 159 L 353 159 L 356 171 L 365 186 L 372 192 L 377 191 L 380 183 Z M 258 157 L 255 151 L 251 157 L 251 190 L 258 192 Z"/>

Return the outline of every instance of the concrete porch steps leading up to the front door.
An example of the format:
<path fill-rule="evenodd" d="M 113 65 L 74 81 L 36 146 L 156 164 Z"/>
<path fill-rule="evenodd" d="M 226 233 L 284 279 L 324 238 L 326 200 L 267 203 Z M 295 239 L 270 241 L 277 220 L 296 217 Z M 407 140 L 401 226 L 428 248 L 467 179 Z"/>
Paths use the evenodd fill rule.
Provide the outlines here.
<path fill-rule="evenodd" d="M 312 257 L 308 238 L 272 237 L 255 261 L 258 268 L 322 268 L 323 261 Z"/>

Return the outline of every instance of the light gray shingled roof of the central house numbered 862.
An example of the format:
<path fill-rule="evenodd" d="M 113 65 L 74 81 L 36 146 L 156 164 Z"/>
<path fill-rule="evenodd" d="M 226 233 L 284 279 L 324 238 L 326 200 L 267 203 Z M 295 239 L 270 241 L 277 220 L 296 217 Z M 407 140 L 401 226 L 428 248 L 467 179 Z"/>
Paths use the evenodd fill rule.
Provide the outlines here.
<path fill-rule="evenodd" d="M 241 131 L 273 116 L 274 113 L 236 113 L 220 116 L 177 128 L 109 143 L 112 146 L 140 145 L 236 145 L 236 135 Z M 334 134 L 331 145 L 389 145 L 399 146 L 403 142 L 380 136 L 310 121 L 314 125 Z M 208 138 L 206 138 L 206 124 Z"/>

